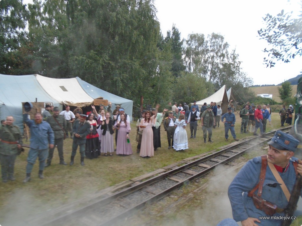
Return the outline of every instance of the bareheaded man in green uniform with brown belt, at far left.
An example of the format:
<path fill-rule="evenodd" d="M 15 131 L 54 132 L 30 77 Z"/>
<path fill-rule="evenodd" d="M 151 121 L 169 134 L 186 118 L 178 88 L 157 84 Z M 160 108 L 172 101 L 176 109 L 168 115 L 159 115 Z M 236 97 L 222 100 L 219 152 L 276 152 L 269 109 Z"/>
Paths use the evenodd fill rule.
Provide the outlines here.
<path fill-rule="evenodd" d="M 22 145 L 22 134 L 18 126 L 14 125 L 14 117 L 7 116 L 6 124 L 0 125 L 0 163 L 2 181 L 14 181 L 14 165 L 18 149 Z"/>

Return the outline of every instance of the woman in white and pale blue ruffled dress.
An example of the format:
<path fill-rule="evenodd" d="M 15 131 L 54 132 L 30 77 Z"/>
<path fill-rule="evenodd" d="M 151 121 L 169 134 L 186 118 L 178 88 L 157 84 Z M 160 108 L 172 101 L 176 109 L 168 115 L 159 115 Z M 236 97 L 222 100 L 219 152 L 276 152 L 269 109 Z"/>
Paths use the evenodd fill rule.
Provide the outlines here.
<path fill-rule="evenodd" d="M 185 121 L 185 115 L 180 114 L 179 119 L 176 119 L 174 123 L 176 129 L 174 132 L 173 148 L 175 151 L 188 149 L 188 136 L 185 127 L 187 126 Z"/>

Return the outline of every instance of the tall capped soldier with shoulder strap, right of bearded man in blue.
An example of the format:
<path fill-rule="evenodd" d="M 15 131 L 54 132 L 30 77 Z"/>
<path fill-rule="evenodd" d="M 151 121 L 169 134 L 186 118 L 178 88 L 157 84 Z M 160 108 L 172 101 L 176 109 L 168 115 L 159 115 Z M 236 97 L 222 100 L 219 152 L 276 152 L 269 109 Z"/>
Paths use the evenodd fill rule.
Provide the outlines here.
<path fill-rule="evenodd" d="M 53 115 L 48 117 L 46 121 L 50 124 L 50 127 L 53 129 L 55 135 L 55 143 L 53 148 L 50 148 L 48 151 L 48 157 L 45 167 L 50 166 L 51 160 L 53 159 L 53 151 L 56 146 L 59 152 L 60 164 L 67 165 L 67 163 L 64 162 L 63 156 L 63 140 L 65 131 L 67 130 L 66 119 L 64 118 L 64 116 L 59 115 L 59 108 L 55 107 L 53 108 Z"/>

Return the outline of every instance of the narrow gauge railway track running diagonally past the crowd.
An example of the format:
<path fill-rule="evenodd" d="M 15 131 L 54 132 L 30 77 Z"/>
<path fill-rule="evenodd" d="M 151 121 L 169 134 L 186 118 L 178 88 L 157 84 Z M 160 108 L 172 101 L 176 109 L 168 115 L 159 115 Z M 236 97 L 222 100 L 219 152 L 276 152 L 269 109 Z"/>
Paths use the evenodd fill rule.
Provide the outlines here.
<path fill-rule="evenodd" d="M 282 130 L 289 132 L 291 127 Z M 275 131 L 247 138 L 234 145 L 223 148 L 217 152 L 208 154 L 194 161 L 182 161 L 184 165 L 175 166 L 169 171 L 162 169 L 158 175 L 147 180 L 141 181 L 140 177 L 133 180 L 128 187 L 122 188 L 117 192 L 103 193 L 98 197 L 93 197 L 84 206 L 78 207 L 65 206 L 52 213 L 47 213 L 48 218 L 32 220 L 31 225 L 89 225 L 105 226 L 114 225 L 114 222 L 129 216 L 132 212 L 142 208 L 146 204 L 151 204 L 167 196 L 173 190 L 190 183 L 199 177 L 212 171 L 218 165 L 224 165 L 244 152 L 254 149 L 256 146 L 268 142 Z M 45 215 L 44 215 L 45 216 Z"/>

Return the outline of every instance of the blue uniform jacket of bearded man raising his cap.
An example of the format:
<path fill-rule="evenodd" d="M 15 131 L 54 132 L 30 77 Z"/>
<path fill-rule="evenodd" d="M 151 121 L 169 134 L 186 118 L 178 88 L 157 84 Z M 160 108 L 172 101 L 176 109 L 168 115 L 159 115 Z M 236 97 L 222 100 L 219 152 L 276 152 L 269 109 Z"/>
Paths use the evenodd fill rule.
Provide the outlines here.
<path fill-rule="evenodd" d="M 48 144 L 55 143 L 55 136 L 48 122 L 42 121 L 36 124 L 34 120 L 28 118 L 27 114 L 23 115 L 23 121 L 31 130 L 30 148 L 42 150 L 47 149 Z"/>

